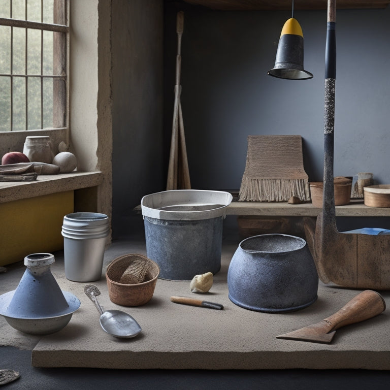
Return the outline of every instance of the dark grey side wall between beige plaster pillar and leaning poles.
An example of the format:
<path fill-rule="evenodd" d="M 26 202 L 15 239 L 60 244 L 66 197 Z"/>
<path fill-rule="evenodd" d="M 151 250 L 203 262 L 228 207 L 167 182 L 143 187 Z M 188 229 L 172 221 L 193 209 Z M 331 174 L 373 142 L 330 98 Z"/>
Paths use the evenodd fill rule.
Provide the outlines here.
<path fill-rule="evenodd" d="M 163 186 L 163 17 L 161 0 L 112 2 L 113 237 Z"/>

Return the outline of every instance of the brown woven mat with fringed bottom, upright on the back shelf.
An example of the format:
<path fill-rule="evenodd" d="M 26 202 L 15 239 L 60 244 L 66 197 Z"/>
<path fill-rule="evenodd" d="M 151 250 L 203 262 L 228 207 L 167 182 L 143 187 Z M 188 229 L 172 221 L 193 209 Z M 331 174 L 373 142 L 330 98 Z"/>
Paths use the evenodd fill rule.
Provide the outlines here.
<path fill-rule="evenodd" d="M 248 136 L 239 201 L 310 201 L 301 136 Z"/>

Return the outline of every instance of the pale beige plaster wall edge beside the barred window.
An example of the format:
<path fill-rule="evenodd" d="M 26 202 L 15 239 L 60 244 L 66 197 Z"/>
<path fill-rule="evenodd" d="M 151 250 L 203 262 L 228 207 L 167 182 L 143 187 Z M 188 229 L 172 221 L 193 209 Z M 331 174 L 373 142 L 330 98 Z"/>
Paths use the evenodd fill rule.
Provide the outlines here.
<path fill-rule="evenodd" d="M 70 151 L 79 171 L 100 170 L 99 212 L 111 216 L 111 1 L 74 0 L 70 37 Z"/>

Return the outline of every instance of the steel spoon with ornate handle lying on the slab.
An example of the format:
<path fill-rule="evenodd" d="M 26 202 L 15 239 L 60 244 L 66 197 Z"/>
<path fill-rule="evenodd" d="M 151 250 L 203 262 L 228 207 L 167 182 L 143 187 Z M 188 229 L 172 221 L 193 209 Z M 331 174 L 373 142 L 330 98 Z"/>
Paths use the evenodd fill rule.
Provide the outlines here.
<path fill-rule="evenodd" d="M 141 332 L 139 323 L 130 315 L 121 310 L 103 310 L 98 299 L 100 290 L 94 284 L 87 284 L 84 293 L 93 302 L 100 313 L 102 329 L 114 337 L 135 337 Z"/>

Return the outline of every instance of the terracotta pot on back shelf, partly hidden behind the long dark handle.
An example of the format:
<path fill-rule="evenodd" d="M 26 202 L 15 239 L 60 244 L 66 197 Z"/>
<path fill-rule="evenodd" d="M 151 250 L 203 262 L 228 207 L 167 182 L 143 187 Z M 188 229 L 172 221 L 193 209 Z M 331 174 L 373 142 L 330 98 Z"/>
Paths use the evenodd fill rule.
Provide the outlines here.
<path fill-rule="evenodd" d="M 314 207 L 322 208 L 323 182 L 310 184 L 311 202 Z M 335 206 L 348 205 L 351 200 L 352 180 L 345 177 L 334 178 Z"/>

